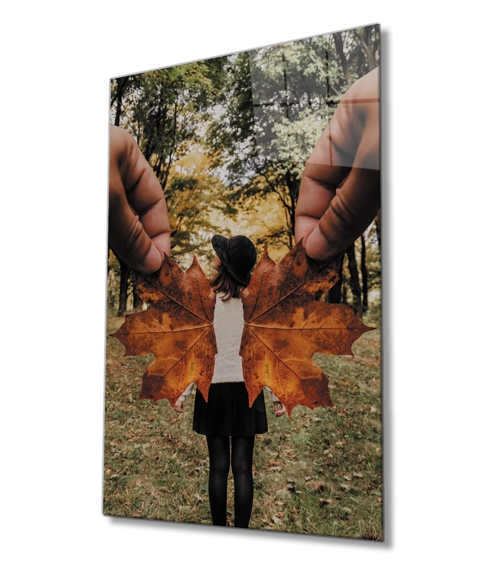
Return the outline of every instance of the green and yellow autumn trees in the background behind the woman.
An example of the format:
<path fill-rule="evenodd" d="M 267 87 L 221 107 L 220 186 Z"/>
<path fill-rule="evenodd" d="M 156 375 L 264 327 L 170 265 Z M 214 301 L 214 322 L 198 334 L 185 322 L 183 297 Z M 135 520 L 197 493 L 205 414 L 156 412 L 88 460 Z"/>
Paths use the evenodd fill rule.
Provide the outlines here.
<path fill-rule="evenodd" d="M 306 161 L 343 93 L 378 64 L 378 48 L 377 26 L 367 26 L 112 80 L 111 122 L 132 134 L 164 189 L 173 259 L 187 268 L 197 253 L 208 272 L 214 232 L 249 234 L 277 259 L 295 245 Z M 369 291 L 380 286 L 379 230 L 377 217 L 365 235 Z M 344 302 L 356 303 L 362 286 L 358 244 L 359 270 L 345 259 L 335 291 Z M 109 305 L 138 304 L 113 253 L 108 280 Z"/>

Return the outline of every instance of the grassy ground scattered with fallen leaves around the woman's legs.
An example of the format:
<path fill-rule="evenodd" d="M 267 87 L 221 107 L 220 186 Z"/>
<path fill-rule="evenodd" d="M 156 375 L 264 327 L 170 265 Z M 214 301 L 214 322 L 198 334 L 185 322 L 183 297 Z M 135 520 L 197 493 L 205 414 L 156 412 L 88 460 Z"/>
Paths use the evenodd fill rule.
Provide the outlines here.
<path fill-rule="evenodd" d="M 377 311 L 363 321 L 379 325 Z M 123 318 L 107 320 L 107 335 Z M 139 400 L 153 356 L 123 357 L 106 339 L 104 513 L 211 524 L 205 439 L 169 402 Z M 330 380 L 334 408 L 297 406 L 257 436 L 250 529 L 382 539 L 381 360 L 379 329 L 353 346 L 355 357 L 315 354 Z M 228 485 L 228 524 L 233 519 Z"/>

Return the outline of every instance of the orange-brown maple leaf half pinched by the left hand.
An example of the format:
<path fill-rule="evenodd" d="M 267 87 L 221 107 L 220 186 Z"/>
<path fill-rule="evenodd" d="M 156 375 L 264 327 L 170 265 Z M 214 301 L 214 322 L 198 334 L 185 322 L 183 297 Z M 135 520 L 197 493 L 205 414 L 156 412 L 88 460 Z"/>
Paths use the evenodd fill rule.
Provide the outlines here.
<path fill-rule="evenodd" d="M 214 333 L 216 296 L 194 257 L 183 272 L 165 255 L 160 270 L 137 274 L 137 294 L 153 308 L 127 315 L 115 338 L 125 356 L 154 353 L 155 360 L 142 378 L 140 399 L 169 399 L 174 406 L 191 382 L 206 401 L 217 352 Z"/>

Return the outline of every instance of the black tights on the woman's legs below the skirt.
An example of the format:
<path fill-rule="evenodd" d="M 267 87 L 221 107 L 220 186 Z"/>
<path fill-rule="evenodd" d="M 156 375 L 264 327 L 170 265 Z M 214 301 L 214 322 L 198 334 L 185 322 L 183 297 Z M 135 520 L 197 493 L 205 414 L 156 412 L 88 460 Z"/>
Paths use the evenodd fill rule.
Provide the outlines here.
<path fill-rule="evenodd" d="M 207 436 L 209 450 L 209 506 L 213 525 L 226 525 L 229 436 Z M 235 527 L 246 529 L 253 507 L 254 436 L 231 437 L 231 470 L 235 480 Z"/>

